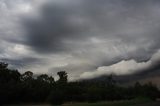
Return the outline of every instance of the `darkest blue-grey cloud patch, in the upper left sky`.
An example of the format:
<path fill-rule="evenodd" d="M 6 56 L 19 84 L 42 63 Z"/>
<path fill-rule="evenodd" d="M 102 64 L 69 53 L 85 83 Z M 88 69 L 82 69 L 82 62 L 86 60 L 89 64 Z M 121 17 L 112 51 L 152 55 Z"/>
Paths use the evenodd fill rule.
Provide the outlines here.
<path fill-rule="evenodd" d="M 80 34 L 86 31 L 85 26 L 72 25 L 69 22 L 72 11 L 72 8 L 68 9 L 52 3 L 42 8 L 39 20 L 26 20 L 29 45 L 40 52 L 70 50 L 65 41 L 80 39 L 82 36 Z"/>

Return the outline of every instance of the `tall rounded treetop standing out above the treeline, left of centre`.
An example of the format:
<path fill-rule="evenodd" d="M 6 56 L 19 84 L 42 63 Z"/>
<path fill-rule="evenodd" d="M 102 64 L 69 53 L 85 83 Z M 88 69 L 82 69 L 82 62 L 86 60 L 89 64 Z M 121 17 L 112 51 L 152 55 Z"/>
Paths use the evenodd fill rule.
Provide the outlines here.
<path fill-rule="evenodd" d="M 57 73 L 57 75 L 59 76 L 59 80 L 58 82 L 61 82 L 61 83 L 67 83 L 67 73 L 65 71 L 60 71 Z"/>

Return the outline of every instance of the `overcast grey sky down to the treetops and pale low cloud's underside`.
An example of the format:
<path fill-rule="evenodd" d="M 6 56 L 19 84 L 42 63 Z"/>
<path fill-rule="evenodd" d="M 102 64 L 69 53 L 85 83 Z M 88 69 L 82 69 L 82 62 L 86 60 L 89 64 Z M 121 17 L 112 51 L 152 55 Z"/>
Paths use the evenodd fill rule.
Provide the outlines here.
<path fill-rule="evenodd" d="M 160 62 L 159 0 L 0 0 L 0 60 L 70 80 Z"/>

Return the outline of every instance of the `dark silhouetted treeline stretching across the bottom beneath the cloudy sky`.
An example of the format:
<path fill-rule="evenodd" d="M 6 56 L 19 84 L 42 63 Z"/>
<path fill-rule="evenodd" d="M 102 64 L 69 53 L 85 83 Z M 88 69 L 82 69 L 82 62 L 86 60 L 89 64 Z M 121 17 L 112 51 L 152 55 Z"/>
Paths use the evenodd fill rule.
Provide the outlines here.
<path fill-rule="evenodd" d="M 59 80 L 42 74 L 34 77 L 31 71 L 20 74 L 0 62 L 0 103 L 52 103 L 98 102 L 112 100 L 129 100 L 145 97 L 155 100 L 160 91 L 152 83 L 121 87 L 116 84 L 112 75 L 106 81 L 68 82 L 67 73 L 57 73 Z"/>

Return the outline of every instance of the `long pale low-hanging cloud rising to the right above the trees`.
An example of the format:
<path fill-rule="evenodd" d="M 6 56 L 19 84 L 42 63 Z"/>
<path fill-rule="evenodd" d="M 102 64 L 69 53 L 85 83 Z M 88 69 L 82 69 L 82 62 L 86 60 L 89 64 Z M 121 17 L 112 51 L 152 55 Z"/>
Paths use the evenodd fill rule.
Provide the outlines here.
<path fill-rule="evenodd" d="M 101 66 L 94 72 L 84 72 L 80 79 L 92 79 L 103 75 L 130 75 L 140 73 L 157 67 L 160 62 L 160 50 L 147 62 L 136 62 L 135 60 L 122 60 L 110 66 Z M 153 70 L 151 70 L 153 71 Z"/>

